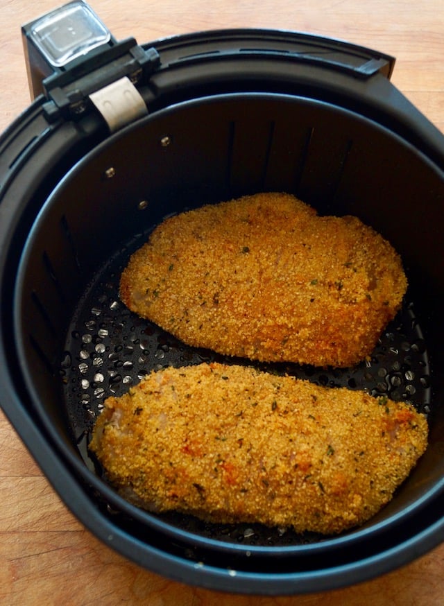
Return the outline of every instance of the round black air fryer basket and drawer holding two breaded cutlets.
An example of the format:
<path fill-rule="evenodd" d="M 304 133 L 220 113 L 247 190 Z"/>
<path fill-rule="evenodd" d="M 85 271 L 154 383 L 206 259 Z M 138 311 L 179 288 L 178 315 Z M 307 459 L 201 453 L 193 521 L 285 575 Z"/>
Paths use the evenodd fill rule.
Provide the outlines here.
<path fill-rule="evenodd" d="M 444 140 L 388 82 L 386 58 L 363 76 L 338 61 L 338 53 L 356 52 L 339 44 L 330 64 L 291 64 L 289 49 L 302 42 L 323 44 L 249 31 L 153 44 L 160 68 L 144 90 L 148 116 L 114 135 L 96 114 L 64 119 L 63 155 L 56 135 L 52 149 L 41 139 L 46 154 L 32 155 L 37 164 L 21 184 L 19 171 L 6 181 L 12 193 L 0 207 L 8 223 L 1 234 L 2 406 L 96 535 L 149 569 L 215 589 L 338 587 L 444 538 Z M 42 121 L 46 100 L 39 99 L 21 125 Z M 3 136 L 4 149 L 18 130 Z M 393 501 L 338 537 L 144 512 L 114 493 L 87 451 L 105 397 L 151 369 L 221 359 L 123 306 L 119 274 L 130 253 L 165 216 L 257 191 L 289 191 L 321 214 L 359 216 L 393 243 L 409 278 L 404 306 L 370 362 L 341 371 L 273 366 L 407 399 L 429 419 L 429 448 Z"/>

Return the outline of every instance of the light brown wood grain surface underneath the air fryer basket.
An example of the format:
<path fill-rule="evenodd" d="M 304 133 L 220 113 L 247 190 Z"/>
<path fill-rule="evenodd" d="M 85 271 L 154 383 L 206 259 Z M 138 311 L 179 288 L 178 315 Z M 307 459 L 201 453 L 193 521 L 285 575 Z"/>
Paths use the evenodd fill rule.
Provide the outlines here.
<path fill-rule="evenodd" d="M 397 58 L 393 83 L 444 130 L 443 0 L 91 0 L 118 40 L 225 27 L 283 28 Z M 0 0 L 0 130 L 30 103 L 20 26 L 56 0 Z M 1 386 L 0 386 L 1 390 Z M 444 603 L 444 545 L 402 569 L 323 594 L 268 598 L 187 587 L 103 546 L 71 515 L 0 413 L 2 605 L 422 606 Z"/>

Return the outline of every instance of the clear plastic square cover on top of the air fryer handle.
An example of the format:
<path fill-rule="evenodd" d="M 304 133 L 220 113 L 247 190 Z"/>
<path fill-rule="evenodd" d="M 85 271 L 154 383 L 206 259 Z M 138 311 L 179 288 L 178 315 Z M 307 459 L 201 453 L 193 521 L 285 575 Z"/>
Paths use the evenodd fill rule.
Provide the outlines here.
<path fill-rule="evenodd" d="M 71 2 L 35 21 L 31 35 L 54 67 L 62 67 L 111 38 L 99 17 L 81 1 Z"/>

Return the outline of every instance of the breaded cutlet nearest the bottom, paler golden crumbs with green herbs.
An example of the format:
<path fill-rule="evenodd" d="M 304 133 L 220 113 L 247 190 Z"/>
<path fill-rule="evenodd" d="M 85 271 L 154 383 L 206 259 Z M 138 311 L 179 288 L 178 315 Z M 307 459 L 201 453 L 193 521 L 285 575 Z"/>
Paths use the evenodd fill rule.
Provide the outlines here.
<path fill-rule="evenodd" d="M 90 444 L 148 510 L 324 534 L 373 516 L 426 446 L 408 404 L 219 363 L 152 372 L 108 398 Z"/>

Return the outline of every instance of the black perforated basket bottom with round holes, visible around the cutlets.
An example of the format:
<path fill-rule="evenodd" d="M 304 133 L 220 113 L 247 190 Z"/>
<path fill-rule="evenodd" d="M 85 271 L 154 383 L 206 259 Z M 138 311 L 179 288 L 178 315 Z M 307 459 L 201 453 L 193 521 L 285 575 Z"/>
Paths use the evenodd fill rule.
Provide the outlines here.
<path fill-rule="evenodd" d="M 248 363 L 207 349 L 196 349 L 130 312 L 119 300 L 119 279 L 130 254 L 146 236 L 138 236 L 110 259 L 96 274 L 81 297 L 72 318 L 62 356 L 60 374 L 67 418 L 85 464 L 100 473 L 89 458 L 87 443 L 103 401 L 122 395 L 151 370 L 223 361 Z M 352 335 L 350 335 L 352 338 Z M 318 369 L 288 363 L 257 364 L 262 370 L 287 373 L 323 386 L 343 386 L 409 401 L 429 413 L 429 363 L 427 349 L 413 304 L 406 302 L 379 339 L 371 356 L 345 370 Z M 162 520 L 203 537 L 248 545 L 284 546 L 318 542 L 319 535 L 296 535 L 291 530 L 251 524 L 236 526 L 203 523 L 181 514 L 163 514 Z"/>

